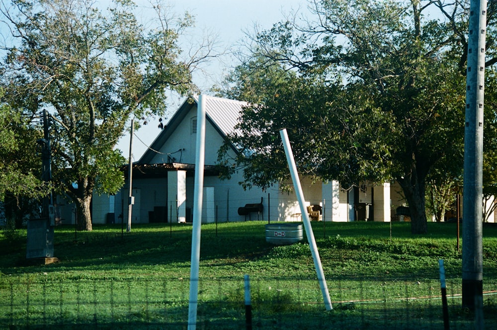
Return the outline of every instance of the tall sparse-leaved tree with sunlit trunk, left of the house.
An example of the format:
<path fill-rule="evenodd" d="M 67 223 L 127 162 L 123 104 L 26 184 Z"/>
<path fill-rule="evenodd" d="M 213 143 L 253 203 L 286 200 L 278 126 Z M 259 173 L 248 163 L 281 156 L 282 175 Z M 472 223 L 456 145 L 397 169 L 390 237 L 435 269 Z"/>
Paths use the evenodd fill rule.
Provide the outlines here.
<path fill-rule="evenodd" d="M 50 111 L 54 182 L 75 202 L 85 230 L 92 193 L 115 193 L 123 184 L 124 159 L 113 148 L 128 118 L 163 115 L 168 91 L 196 91 L 192 71 L 213 51 L 205 40 L 183 55 L 178 39 L 193 23 L 187 13 L 175 17 L 156 3 L 157 18 L 144 26 L 132 1 L 111 5 L 11 0 L 1 7 L 15 40 L 5 47 L 5 100 L 22 112 Z"/>

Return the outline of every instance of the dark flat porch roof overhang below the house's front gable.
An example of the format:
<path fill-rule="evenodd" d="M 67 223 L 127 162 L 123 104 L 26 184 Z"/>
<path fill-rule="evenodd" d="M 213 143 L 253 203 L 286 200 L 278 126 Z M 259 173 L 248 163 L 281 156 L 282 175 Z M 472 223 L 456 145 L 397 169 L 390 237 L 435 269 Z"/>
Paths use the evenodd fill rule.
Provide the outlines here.
<path fill-rule="evenodd" d="M 124 165 L 121 170 L 129 173 L 129 165 Z M 195 164 L 163 163 L 163 164 L 133 164 L 133 178 L 166 178 L 169 171 L 186 171 L 187 177 L 195 174 Z M 204 166 L 204 176 L 219 176 L 215 165 Z M 126 177 L 127 178 L 127 177 Z"/>

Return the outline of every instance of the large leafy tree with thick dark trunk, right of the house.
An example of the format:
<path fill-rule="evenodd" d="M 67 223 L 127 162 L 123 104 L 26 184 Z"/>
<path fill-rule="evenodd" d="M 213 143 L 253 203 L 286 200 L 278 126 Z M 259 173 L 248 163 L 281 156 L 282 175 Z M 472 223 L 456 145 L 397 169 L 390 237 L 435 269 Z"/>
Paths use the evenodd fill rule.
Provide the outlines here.
<path fill-rule="evenodd" d="M 448 177 L 462 167 L 467 5 L 468 1 L 315 0 L 310 2 L 314 20 L 277 23 L 255 33 L 248 44 L 252 58 L 295 70 L 299 83 L 314 91 L 289 98 L 285 101 L 292 106 L 280 104 L 267 113 L 271 116 L 272 111 L 273 119 L 284 118 L 281 127 L 306 131 L 294 135 L 292 143 L 314 143 L 312 153 L 310 145 L 296 147 L 307 148 L 313 156 L 300 158 L 301 167 L 348 184 L 359 179 L 396 180 L 411 208 L 413 233 L 427 231 L 429 174 Z M 433 14 L 436 17 L 431 18 Z M 493 15 L 489 16 L 492 24 Z M 316 100 L 322 100 L 319 110 L 315 105 L 300 116 L 292 113 Z M 281 107 L 290 112 L 277 112 L 285 109 Z M 320 130 L 310 119 L 316 111 L 322 111 L 317 122 L 326 123 Z M 250 124 L 273 124 L 262 117 L 254 116 L 255 123 Z M 262 127 L 256 125 L 259 120 L 266 121 Z M 244 141 L 248 139 L 235 139 L 237 145 Z M 244 157 L 247 161 L 256 156 Z M 253 178 L 267 173 L 272 159 L 266 158 L 250 165 L 256 175 L 246 177 L 248 182 L 260 184 Z M 451 168 L 433 171 L 437 167 Z"/>

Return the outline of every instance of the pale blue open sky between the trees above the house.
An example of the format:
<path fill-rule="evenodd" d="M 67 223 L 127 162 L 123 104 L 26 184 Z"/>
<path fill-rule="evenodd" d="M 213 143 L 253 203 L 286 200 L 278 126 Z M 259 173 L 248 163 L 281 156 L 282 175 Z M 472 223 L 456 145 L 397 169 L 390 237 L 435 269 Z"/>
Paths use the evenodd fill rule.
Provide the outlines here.
<path fill-rule="evenodd" d="M 138 5 L 147 2 L 136 0 Z M 300 11 L 306 11 L 308 5 L 307 0 L 169 0 L 168 2 L 178 13 L 187 10 L 195 17 L 195 27 L 190 30 L 191 38 L 201 40 L 204 33 L 217 35 L 219 49 L 228 51 L 237 49 L 237 44 L 244 38 L 247 31 L 253 30 L 254 24 L 262 29 L 270 28 L 291 11 L 299 8 Z M 229 71 L 231 66 L 236 64 L 236 59 L 229 54 L 214 59 L 203 68 L 203 73 L 194 76 L 194 83 L 203 92 L 207 92 L 210 87 L 222 80 L 223 75 Z M 172 98 L 170 101 L 171 105 L 167 109 L 169 117 L 184 100 Z M 152 144 L 160 133 L 157 119 L 135 131 L 133 161 L 140 159 L 147 150 L 147 146 Z M 117 145 L 126 158 L 129 157 L 129 143 L 128 134 Z"/>

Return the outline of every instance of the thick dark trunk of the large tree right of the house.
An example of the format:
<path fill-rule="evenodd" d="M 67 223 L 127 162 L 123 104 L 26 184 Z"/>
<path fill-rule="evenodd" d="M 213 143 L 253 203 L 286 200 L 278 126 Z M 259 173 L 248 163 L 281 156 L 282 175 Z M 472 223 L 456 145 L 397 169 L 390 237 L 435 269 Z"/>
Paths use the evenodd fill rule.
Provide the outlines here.
<path fill-rule="evenodd" d="M 419 182 L 417 177 L 408 177 L 398 180 L 411 212 L 411 232 L 425 234 L 428 232 L 425 210 L 425 183 Z"/>

